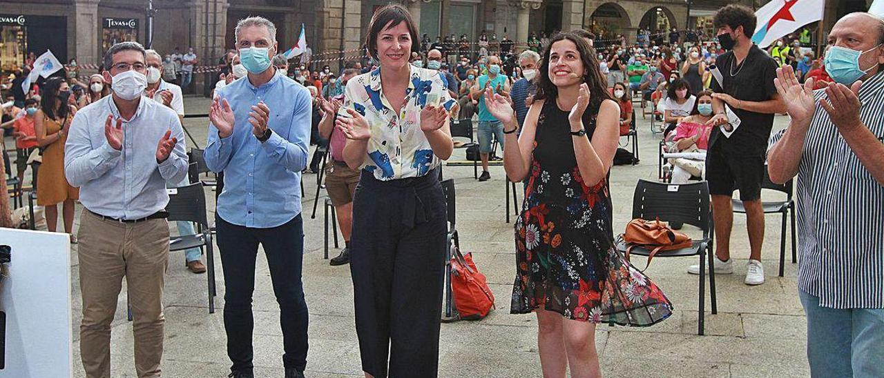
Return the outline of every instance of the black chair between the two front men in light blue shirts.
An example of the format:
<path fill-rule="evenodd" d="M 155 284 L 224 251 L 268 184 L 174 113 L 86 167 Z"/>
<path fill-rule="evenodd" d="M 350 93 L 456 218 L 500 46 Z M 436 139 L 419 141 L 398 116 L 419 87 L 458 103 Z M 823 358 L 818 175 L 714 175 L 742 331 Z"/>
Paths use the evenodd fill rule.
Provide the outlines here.
<path fill-rule="evenodd" d="M 206 216 L 206 193 L 202 184 L 168 188 L 169 204 L 166 211 L 169 221 L 196 223 L 196 234 L 182 235 L 171 239 L 169 251 L 181 251 L 187 248 L 200 247 L 206 253 L 206 277 L 209 281 L 209 314 L 215 313 L 215 254 L 212 247 L 212 235 L 209 231 L 209 220 Z M 203 250 L 203 247 L 205 249 Z"/>

